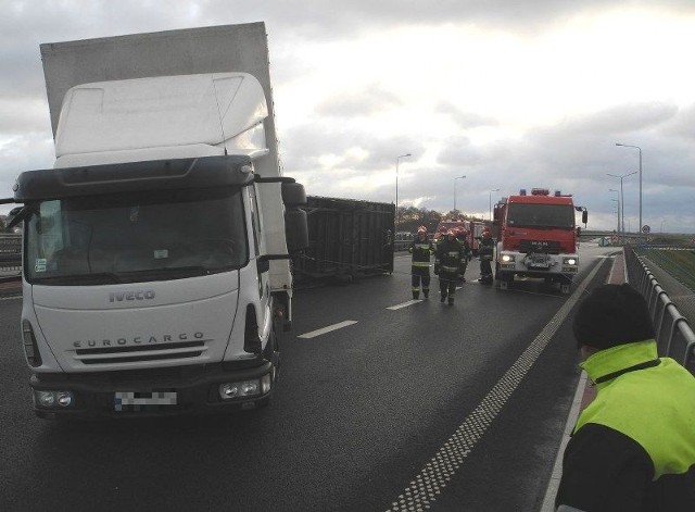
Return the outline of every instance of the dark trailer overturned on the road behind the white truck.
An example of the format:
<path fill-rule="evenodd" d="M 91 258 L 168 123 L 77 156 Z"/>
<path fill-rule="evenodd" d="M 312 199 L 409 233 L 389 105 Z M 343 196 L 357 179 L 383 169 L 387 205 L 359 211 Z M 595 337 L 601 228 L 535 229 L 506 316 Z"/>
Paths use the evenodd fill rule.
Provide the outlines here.
<path fill-rule="evenodd" d="M 308 196 L 308 248 L 294 259 L 298 285 L 393 272 L 394 205 Z"/>

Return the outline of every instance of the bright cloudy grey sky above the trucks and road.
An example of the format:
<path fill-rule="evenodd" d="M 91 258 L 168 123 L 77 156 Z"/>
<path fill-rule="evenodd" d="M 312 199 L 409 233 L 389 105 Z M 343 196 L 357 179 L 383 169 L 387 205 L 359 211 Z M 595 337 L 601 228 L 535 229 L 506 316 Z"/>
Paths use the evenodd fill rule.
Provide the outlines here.
<path fill-rule="evenodd" d="M 54 153 L 39 45 L 263 21 L 285 174 L 489 215 L 519 188 L 695 233 L 693 0 L 0 0 L 0 197 Z M 410 153 L 409 158 L 397 159 Z M 465 175 L 466 178 L 456 179 Z M 639 174 L 626 227 L 639 225 Z M 500 189 L 500 191 L 492 191 Z M 5 213 L 11 207 L 0 207 Z"/>

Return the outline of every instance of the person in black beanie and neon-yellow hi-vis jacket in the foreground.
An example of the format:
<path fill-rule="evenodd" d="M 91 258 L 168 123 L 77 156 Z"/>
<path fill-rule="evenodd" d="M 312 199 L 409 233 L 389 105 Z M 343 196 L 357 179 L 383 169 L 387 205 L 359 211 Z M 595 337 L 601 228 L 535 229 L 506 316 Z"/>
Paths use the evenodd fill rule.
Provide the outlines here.
<path fill-rule="evenodd" d="M 657 355 L 644 298 L 603 285 L 573 330 L 597 395 L 565 450 L 557 511 L 694 511 L 695 377 Z"/>

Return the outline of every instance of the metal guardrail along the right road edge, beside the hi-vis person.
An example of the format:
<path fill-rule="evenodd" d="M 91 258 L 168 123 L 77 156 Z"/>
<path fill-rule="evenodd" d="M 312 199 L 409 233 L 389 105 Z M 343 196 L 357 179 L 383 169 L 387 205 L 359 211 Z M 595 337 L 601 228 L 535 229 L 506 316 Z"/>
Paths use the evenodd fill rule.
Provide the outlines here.
<path fill-rule="evenodd" d="M 695 375 L 695 334 L 654 274 L 631 247 L 624 248 L 628 280 L 646 299 L 659 355 L 674 359 Z"/>

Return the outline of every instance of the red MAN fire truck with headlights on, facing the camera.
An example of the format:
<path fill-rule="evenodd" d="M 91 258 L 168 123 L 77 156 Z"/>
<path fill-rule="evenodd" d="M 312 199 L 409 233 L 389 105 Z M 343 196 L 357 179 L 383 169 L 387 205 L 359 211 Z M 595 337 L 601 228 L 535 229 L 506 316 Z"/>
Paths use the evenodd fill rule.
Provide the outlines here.
<path fill-rule="evenodd" d="M 518 196 L 503 198 L 494 208 L 494 224 L 498 228 L 495 279 L 506 289 L 514 276 L 541 277 L 559 284 L 563 294 L 570 292 L 572 278 L 579 271 L 578 232 L 574 212 L 587 212 L 576 207 L 571 195 L 545 188 L 534 188 L 530 195 L 522 189 Z"/>

